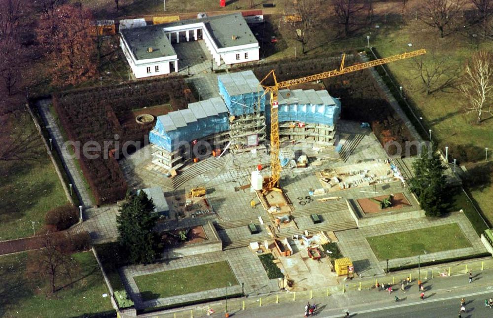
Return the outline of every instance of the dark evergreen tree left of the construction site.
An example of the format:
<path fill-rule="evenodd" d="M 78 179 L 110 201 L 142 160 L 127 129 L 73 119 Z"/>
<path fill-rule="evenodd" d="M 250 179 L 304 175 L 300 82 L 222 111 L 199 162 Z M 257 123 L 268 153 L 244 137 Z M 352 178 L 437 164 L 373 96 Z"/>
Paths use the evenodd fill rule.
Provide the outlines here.
<path fill-rule="evenodd" d="M 127 193 L 119 209 L 120 215 L 116 217 L 118 241 L 128 252 L 132 264 L 148 264 L 158 256 L 161 244 L 157 233 L 152 231 L 158 219 L 157 215 L 151 214 L 154 208 L 152 199 L 140 191 L 139 194 Z"/>

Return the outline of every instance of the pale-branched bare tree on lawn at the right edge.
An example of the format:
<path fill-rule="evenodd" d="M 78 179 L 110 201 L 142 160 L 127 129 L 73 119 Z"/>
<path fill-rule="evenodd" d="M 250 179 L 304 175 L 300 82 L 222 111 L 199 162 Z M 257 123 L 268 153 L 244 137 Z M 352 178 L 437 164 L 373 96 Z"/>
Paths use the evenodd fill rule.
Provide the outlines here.
<path fill-rule="evenodd" d="M 467 98 L 464 105 L 468 113 L 476 113 L 478 123 L 485 113 L 493 115 L 493 55 L 479 51 L 472 56 L 466 66 L 460 91 Z"/>

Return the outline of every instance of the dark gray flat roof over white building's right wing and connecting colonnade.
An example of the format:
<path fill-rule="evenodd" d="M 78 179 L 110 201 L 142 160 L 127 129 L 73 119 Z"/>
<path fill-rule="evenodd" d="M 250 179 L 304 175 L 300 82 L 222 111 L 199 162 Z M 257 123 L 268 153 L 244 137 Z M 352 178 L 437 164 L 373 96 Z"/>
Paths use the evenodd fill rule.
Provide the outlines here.
<path fill-rule="evenodd" d="M 203 22 L 218 48 L 234 47 L 258 43 L 241 13 L 216 15 L 202 19 L 182 20 L 162 24 L 162 27 L 175 27 Z M 236 36 L 234 40 L 232 37 Z"/>

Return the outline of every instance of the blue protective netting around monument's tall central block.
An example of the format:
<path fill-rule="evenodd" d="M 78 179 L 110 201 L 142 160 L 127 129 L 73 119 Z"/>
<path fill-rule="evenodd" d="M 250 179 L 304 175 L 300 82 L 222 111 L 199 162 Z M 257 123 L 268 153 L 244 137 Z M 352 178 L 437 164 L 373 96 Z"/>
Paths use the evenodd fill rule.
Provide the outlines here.
<path fill-rule="evenodd" d="M 224 103 L 229 109 L 229 112 L 233 116 L 240 116 L 245 114 L 251 114 L 255 111 L 265 110 L 266 96 L 262 96 L 263 90 L 259 92 L 252 92 L 240 95 L 231 96 L 224 87 L 221 79 L 217 79 L 219 86 L 219 94 L 224 100 Z"/>

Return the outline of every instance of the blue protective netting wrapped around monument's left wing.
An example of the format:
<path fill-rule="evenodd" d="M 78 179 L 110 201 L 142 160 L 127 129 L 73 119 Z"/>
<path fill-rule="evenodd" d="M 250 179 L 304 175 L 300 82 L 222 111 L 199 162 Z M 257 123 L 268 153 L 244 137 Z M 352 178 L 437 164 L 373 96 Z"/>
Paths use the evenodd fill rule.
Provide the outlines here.
<path fill-rule="evenodd" d="M 175 151 L 179 147 L 180 142 L 190 142 L 228 130 L 229 121 L 227 113 L 201 118 L 197 122 L 169 132 L 164 130 L 163 124 L 158 117 L 156 126 L 149 133 L 149 141 L 168 151 Z"/>

